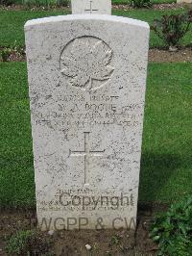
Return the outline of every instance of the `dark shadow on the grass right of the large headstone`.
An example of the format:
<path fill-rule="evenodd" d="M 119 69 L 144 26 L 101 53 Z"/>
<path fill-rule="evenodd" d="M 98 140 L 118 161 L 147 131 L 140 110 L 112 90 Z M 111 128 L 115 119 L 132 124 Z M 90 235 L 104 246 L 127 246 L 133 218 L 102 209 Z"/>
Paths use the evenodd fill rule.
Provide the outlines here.
<path fill-rule="evenodd" d="M 139 201 L 156 201 L 183 159 L 175 154 L 144 153 L 141 157 Z"/>

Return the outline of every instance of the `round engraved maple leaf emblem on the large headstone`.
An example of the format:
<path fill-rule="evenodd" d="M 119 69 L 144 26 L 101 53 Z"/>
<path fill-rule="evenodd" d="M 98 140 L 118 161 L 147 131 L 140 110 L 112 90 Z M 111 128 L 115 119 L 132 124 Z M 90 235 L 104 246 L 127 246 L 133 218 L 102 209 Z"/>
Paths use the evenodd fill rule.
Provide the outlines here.
<path fill-rule="evenodd" d="M 114 70 L 110 65 L 111 59 L 112 50 L 103 40 L 93 37 L 76 38 L 63 49 L 60 70 L 70 78 L 72 86 L 94 90 L 110 78 Z"/>

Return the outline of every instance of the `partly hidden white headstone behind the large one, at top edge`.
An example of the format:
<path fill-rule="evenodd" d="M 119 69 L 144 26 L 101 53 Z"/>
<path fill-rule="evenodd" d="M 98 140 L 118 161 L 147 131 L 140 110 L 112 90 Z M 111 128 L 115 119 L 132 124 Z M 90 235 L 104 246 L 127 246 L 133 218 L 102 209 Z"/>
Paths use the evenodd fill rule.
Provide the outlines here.
<path fill-rule="evenodd" d="M 111 0 L 71 0 L 73 14 L 111 14 Z"/>

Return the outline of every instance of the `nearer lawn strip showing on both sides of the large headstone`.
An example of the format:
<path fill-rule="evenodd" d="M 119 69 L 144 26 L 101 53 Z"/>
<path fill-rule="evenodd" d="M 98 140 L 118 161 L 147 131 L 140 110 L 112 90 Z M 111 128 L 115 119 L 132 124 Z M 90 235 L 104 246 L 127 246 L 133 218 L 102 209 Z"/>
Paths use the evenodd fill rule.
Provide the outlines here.
<path fill-rule="evenodd" d="M 192 64 L 150 64 L 140 201 L 192 192 Z M 0 205 L 34 206 L 35 184 L 25 63 L 0 64 Z"/>

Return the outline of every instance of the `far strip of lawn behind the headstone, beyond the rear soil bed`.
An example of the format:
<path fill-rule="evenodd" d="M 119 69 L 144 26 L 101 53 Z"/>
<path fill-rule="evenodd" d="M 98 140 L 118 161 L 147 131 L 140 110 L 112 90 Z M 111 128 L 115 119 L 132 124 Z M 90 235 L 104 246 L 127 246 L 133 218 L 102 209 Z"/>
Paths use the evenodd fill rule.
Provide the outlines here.
<path fill-rule="evenodd" d="M 183 10 L 168 10 L 168 11 L 153 11 L 153 10 L 132 10 L 132 11 L 114 11 L 113 14 L 141 19 L 153 23 L 153 20 L 163 14 L 183 13 Z M 29 19 L 60 15 L 69 13 L 67 11 L 0 11 L 0 46 L 16 45 L 24 46 L 24 31 L 23 26 Z M 184 45 L 190 44 L 192 41 L 192 31 L 182 39 Z M 157 38 L 154 32 L 151 32 L 150 46 L 160 47 L 164 43 L 160 38 Z"/>

